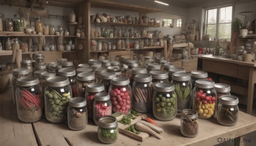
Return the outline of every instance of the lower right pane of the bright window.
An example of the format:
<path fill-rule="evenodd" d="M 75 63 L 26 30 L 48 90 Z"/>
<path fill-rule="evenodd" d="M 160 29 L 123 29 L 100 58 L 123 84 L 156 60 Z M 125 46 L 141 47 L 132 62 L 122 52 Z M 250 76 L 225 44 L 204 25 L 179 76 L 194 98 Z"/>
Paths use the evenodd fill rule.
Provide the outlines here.
<path fill-rule="evenodd" d="M 231 40 L 231 23 L 220 24 L 219 26 L 219 39 Z"/>

